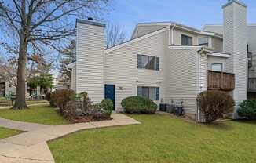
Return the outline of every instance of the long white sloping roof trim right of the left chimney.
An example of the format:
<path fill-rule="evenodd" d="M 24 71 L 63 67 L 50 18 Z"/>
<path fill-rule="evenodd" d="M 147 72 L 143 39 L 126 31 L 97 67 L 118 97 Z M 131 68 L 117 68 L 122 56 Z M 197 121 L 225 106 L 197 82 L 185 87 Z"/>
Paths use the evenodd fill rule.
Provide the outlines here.
<path fill-rule="evenodd" d="M 114 50 L 116 50 L 116 49 L 123 48 L 123 47 L 126 46 L 126 45 L 131 45 L 131 44 L 133 44 L 134 42 L 140 42 L 141 40 L 144 40 L 144 39 L 146 39 L 146 38 L 150 38 L 150 37 L 152 37 L 152 36 L 154 36 L 154 35 L 156 35 L 156 34 L 160 34 L 160 33 L 162 33 L 163 31 L 166 31 L 166 28 L 163 28 L 162 30 L 159 30 L 159 31 L 154 31 L 154 32 L 152 32 L 152 33 L 150 33 L 150 34 L 145 34 L 144 36 L 141 36 L 140 38 L 134 38 L 133 40 L 130 40 L 130 41 L 128 41 L 128 42 L 124 42 L 123 44 L 120 44 L 120 45 L 116 45 L 116 46 L 114 46 L 114 47 L 112 47 L 112 48 L 110 48 L 110 49 L 106 49 L 106 50 L 104 51 L 104 53 L 105 53 L 105 54 L 106 54 L 106 53 L 110 53 L 110 52 L 112 52 L 112 51 L 114 51 Z"/>

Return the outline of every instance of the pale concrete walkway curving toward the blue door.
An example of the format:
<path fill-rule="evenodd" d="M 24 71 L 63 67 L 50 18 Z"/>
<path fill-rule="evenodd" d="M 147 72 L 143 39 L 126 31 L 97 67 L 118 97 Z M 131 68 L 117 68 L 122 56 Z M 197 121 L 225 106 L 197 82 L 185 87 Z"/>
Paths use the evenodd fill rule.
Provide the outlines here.
<path fill-rule="evenodd" d="M 0 126 L 28 131 L 0 139 L 1 163 L 54 163 L 47 141 L 84 129 L 98 129 L 118 125 L 137 125 L 139 121 L 124 114 L 112 114 L 110 121 L 95 121 L 72 125 L 39 125 L 0 119 Z M 24 126 L 21 126 L 22 123 Z"/>

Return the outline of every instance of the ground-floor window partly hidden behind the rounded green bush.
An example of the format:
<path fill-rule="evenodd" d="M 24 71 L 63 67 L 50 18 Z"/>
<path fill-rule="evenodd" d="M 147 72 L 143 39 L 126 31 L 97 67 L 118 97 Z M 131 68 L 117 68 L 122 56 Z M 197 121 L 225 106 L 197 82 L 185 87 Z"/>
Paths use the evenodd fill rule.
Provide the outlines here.
<path fill-rule="evenodd" d="M 137 87 L 137 96 L 157 101 L 159 100 L 159 87 Z"/>

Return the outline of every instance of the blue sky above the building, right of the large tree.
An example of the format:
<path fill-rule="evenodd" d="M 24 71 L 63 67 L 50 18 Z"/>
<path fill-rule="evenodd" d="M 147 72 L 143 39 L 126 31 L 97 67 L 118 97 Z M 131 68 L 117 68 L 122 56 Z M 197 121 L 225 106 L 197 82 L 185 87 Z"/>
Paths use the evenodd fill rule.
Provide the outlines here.
<path fill-rule="evenodd" d="M 113 0 L 105 20 L 119 24 L 128 36 L 137 23 L 175 21 L 191 27 L 221 24 L 228 0 Z M 248 6 L 248 22 L 256 23 L 256 0 L 240 0 Z"/>

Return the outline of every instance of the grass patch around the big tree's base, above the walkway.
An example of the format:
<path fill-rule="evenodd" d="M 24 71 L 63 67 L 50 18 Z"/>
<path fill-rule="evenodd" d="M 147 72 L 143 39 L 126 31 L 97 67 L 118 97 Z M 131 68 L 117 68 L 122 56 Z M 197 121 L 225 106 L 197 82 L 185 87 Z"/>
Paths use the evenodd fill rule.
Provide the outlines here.
<path fill-rule="evenodd" d="M 26 110 L 0 110 L 0 117 L 11 119 L 13 121 L 26 121 L 46 125 L 64 125 L 68 124 L 64 118 L 48 105 L 31 106 Z"/>

